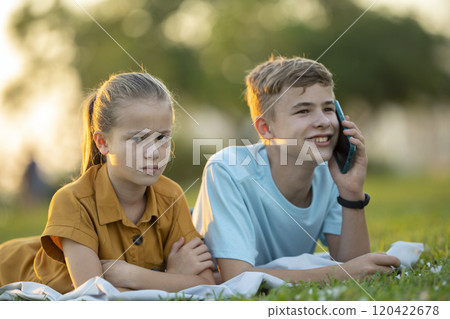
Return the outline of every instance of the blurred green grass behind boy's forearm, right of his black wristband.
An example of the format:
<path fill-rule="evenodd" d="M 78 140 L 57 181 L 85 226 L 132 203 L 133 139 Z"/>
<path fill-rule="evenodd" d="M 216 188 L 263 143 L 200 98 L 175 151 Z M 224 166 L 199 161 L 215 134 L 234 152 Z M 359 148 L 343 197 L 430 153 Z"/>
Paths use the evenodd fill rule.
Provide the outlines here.
<path fill-rule="evenodd" d="M 372 250 L 404 240 L 448 250 L 450 176 L 369 176 L 366 218 Z"/>

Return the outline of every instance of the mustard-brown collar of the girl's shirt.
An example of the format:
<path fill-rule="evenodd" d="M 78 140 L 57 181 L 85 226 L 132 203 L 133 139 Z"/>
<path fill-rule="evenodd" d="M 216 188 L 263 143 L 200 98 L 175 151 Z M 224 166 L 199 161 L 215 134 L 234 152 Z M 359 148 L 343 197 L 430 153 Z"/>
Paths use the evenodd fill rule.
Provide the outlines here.
<path fill-rule="evenodd" d="M 156 196 L 153 187 L 149 186 L 146 190 L 147 203 L 144 214 L 138 225 L 143 222 L 149 222 L 153 216 L 158 217 L 156 206 Z M 97 203 L 97 214 L 100 225 L 105 225 L 122 220 L 126 226 L 137 227 L 125 215 L 122 206 L 119 203 L 116 192 L 108 176 L 106 165 L 102 165 L 95 177 L 95 199 Z"/>

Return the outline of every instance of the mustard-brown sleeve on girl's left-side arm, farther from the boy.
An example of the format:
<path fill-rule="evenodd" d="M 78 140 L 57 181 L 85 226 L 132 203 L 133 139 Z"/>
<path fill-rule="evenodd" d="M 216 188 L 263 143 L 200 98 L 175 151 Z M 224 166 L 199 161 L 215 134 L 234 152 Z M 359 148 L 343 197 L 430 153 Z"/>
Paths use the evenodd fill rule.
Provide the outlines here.
<path fill-rule="evenodd" d="M 47 225 L 41 236 L 46 254 L 64 263 L 64 253 L 52 237 L 69 238 L 98 254 L 98 236 L 91 216 L 68 188 L 62 188 L 53 196 Z"/>

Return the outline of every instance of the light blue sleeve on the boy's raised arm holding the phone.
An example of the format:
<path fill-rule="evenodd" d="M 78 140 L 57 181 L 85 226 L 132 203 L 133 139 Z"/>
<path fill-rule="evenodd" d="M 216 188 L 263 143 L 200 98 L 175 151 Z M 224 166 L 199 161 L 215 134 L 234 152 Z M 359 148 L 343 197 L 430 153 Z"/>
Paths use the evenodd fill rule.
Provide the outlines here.
<path fill-rule="evenodd" d="M 325 234 L 340 235 L 342 227 L 342 207 L 337 202 L 337 197 L 339 196 L 339 191 L 336 184 L 333 186 L 328 197 L 328 208 L 327 214 L 325 216 L 322 231 L 320 233 L 320 241 L 328 246 L 325 239 Z"/>

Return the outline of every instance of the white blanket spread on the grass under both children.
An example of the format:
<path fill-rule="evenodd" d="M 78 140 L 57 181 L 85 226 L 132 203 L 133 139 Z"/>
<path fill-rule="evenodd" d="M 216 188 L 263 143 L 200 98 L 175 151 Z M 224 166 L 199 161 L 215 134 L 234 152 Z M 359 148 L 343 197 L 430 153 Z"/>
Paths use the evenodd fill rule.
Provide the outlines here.
<path fill-rule="evenodd" d="M 410 267 L 423 251 L 421 243 L 396 242 L 387 254 L 398 257 L 402 266 Z M 296 257 L 283 257 L 259 268 L 312 269 L 338 263 L 329 259 L 327 254 L 302 254 Z M 245 272 L 221 285 L 200 285 L 177 293 L 162 290 L 136 290 L 120 292 L 108 281 L 95 277 L 67 294 L 60 294 L 50 287 L 34 282 L 16 282 L 0 288 L 0 300 L 215 300 L 218 297 L 229 298 L 235 295 L 254 295 L 261 284 L 267 288 L 279 287 L 284 281 L 262 272 Z"/>

